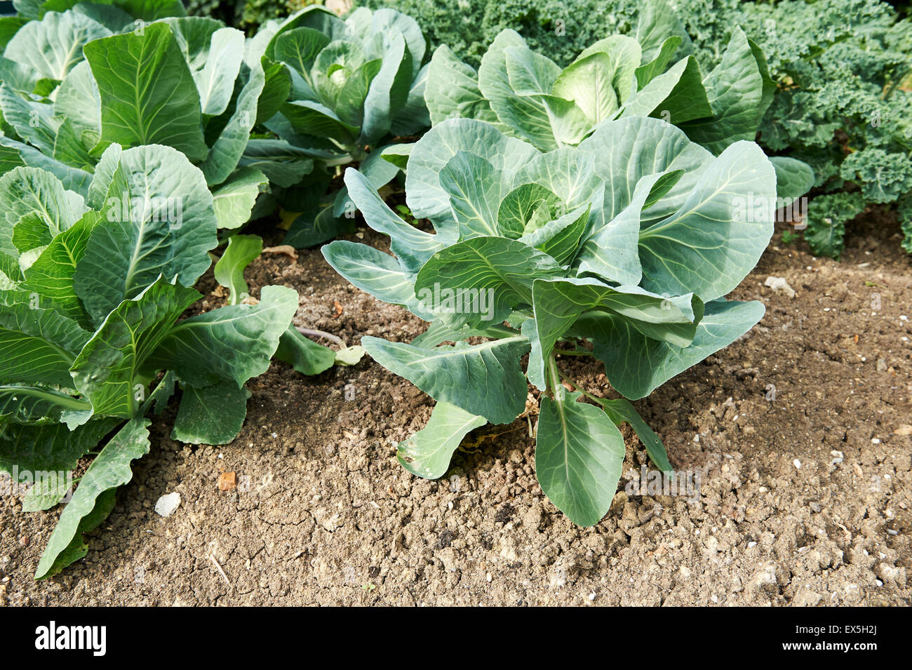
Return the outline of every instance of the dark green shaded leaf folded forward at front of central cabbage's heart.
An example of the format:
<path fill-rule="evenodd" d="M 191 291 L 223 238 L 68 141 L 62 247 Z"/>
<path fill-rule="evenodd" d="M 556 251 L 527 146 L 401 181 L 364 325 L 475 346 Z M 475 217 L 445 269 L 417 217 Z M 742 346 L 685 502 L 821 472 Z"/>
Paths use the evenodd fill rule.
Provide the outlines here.
<path fill-rule="evenodd" d="M 523 242 L 475 237 L 435 253 L 418 273 L 415 294 L 451 314 L 452 323 L 478 327 L 500 323 L 518 304 L 532 304 L 536 278 L 563 275 L 551 256 Z"/>

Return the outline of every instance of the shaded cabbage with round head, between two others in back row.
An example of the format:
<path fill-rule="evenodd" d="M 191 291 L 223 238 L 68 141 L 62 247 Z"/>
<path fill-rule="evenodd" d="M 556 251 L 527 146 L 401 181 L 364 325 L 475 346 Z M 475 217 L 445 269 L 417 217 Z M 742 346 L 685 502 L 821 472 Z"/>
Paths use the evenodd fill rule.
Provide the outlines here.
<path fill-rule="evenodd" d="M 327 168 L 359 163 L 377 188 L 396 176 L 399 168 L 381 157 L 385 143 L 430 125 L 424 51 L 414 19 L 390 9 L 359 8 L 343 21 L 310 6 L 282 23 L 267 22 L 250 40 L 247 59 L 262 57 L 285 77 L 272 78 L 264 92 L 275 114 L 260 119 L 274 137 L 251 139 L 244 161 L 279 187 L 286 211 L 302 212 L 287 242 L 309 246 L 350 229 L 345 191 L 326 194 Z M 286 174 L 296 158 L 317 160 L 319 169 L 304 181 Z"/>

